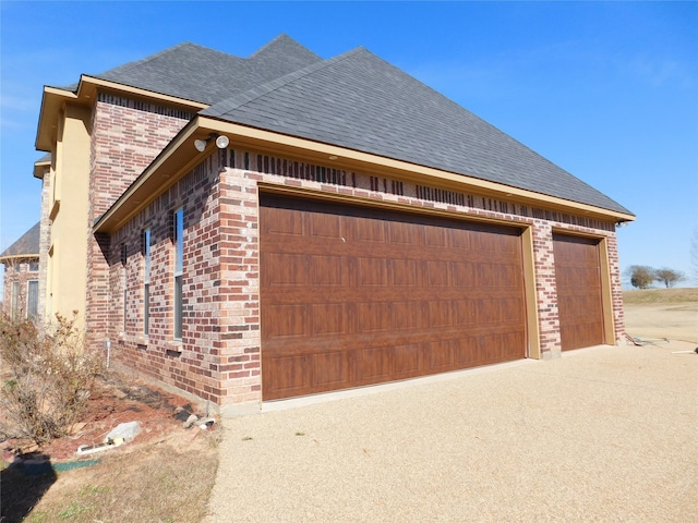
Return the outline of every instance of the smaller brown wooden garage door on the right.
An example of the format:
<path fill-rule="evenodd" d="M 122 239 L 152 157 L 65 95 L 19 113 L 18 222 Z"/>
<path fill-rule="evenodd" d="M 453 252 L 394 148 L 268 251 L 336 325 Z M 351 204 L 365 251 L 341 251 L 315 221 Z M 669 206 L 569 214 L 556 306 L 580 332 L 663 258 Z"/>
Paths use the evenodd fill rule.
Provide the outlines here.
<path fill-rule="evenodd" d="M 604 343 L 599 241 L 553 234 L 562 349 Z"/>

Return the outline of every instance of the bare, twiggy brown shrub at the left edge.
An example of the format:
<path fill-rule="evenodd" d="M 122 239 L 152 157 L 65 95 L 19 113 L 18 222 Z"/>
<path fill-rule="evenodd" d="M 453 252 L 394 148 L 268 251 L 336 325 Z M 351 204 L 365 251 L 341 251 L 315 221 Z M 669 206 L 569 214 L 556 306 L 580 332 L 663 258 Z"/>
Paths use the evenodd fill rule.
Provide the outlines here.
<path fill-rule="evenodd" d="M 71 319 L 57 314 L 50 330 L 31 320 L 0 318 L 4 437 L 28 437 L 41 445 L 65 436 L 80 419 L 103 358 L 86 346 L 76 317 L 76 312 Z"/>

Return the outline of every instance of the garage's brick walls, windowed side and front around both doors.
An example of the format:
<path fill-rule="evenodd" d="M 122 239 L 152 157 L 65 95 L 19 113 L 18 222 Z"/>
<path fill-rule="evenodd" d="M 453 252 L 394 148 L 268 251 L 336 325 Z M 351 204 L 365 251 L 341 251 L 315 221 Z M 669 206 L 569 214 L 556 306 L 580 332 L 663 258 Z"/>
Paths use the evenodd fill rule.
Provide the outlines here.
<path fill-rule="evenodd" d="M 561 353 L 553 228 L 605 238 L 616 335 L 623 333 L 614 224 L 248 151 L 216 151 L 111 238 L 110 337 L 118 356 L 167 384 L 219 405 L 261 401 L 258 185 L 279 185 L 530 226 L 542 357 Z M 183 206 L 184 328 L 172 339 L 172 211 Z M 143 332 L 142 232 L 153 230 L 152 323 Z M 121 245 L 128 255 L 121 259 Z M 123 281 L 127 329 L 123 331 Z M 119 326 L 119 328 L 117 328 Z"/>

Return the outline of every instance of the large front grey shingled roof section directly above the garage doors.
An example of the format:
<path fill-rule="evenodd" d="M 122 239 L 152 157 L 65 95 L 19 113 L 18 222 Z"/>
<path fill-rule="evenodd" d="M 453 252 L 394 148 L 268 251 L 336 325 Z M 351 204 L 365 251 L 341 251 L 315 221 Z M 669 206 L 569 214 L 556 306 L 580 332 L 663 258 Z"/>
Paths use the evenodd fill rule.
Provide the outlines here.
<path fill-rule="evenodd" d="M 363 48 L 201 114 L 631 214 Z"/>

